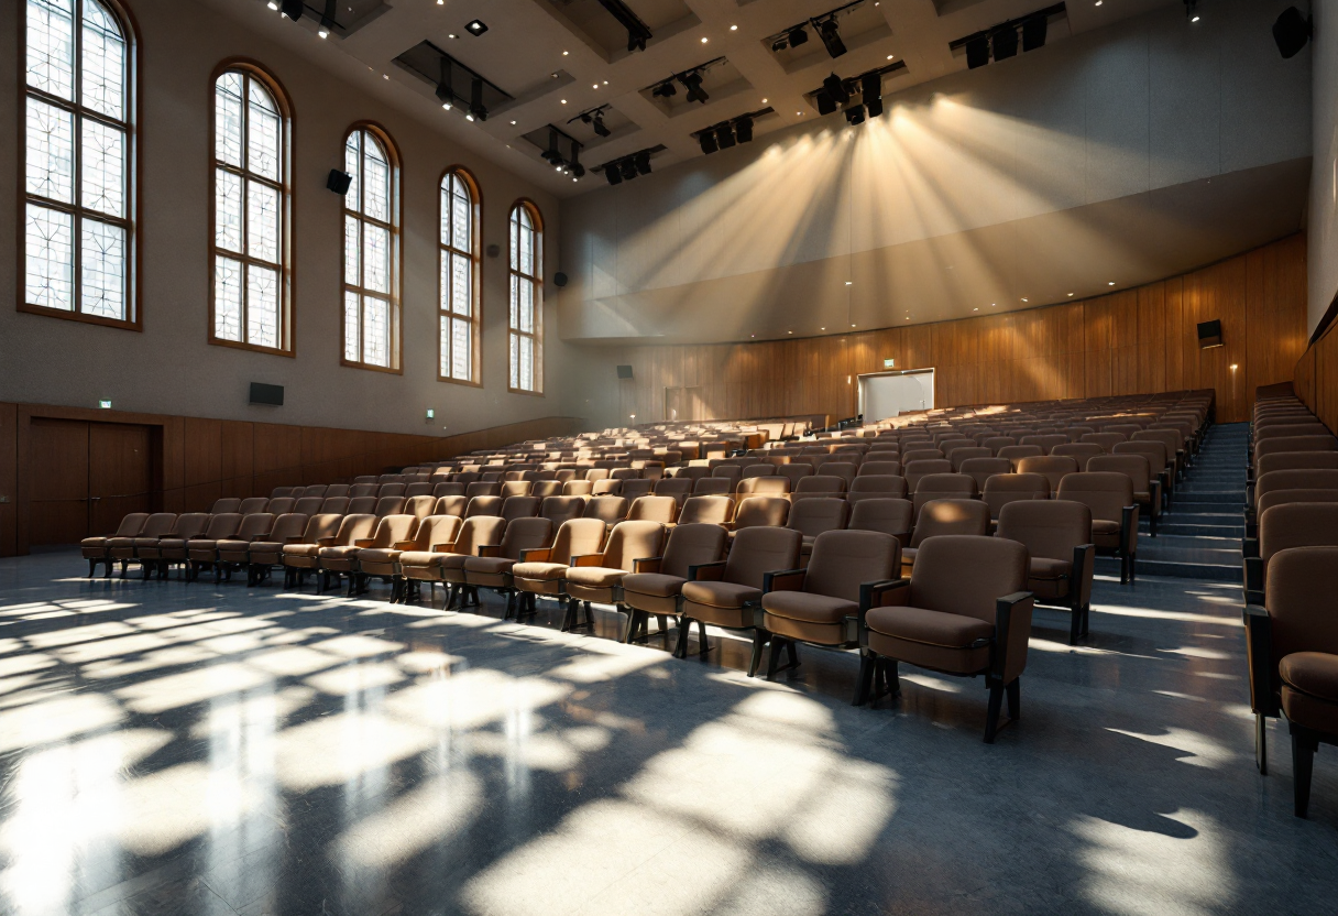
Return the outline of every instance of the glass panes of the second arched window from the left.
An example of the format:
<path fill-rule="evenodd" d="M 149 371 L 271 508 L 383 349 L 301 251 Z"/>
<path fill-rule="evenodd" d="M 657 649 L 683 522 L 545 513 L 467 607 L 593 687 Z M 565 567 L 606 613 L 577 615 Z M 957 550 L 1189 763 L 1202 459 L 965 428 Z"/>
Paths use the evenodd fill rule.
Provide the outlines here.
<path fill-rule="evenodd" d="M 214 80 L 210 341 L 292 354 L 288 100 L 250 66 Z"/>

